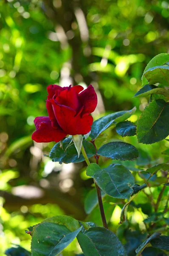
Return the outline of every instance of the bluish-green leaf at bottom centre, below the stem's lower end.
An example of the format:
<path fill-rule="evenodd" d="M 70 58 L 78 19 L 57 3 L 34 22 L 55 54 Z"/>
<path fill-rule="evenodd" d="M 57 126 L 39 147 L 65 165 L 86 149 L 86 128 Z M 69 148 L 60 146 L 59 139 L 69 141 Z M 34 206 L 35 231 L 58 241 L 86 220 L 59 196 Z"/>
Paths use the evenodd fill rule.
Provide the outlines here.
<path fill-rule="evenodd" d="M 77 236 L 85 256 L 127 256 L 123 244 L 104 227 L 92 227 Z"/>

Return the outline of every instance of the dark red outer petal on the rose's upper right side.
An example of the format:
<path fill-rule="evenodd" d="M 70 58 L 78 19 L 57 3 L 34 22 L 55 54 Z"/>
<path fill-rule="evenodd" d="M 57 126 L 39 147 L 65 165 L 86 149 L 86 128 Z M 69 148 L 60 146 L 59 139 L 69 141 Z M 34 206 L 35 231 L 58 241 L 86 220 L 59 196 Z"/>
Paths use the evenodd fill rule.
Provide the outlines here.
<path fill-rule="evenodd" d="M 83 116 L 88 115 L 95 110 L 97 106 L 97 94 L 91 84 L 87 87 L 86 90 L 82 91 L 82 93 L 79 93 L 78 99 L 82 105 L 85 106 L 82 112 Z"/>

